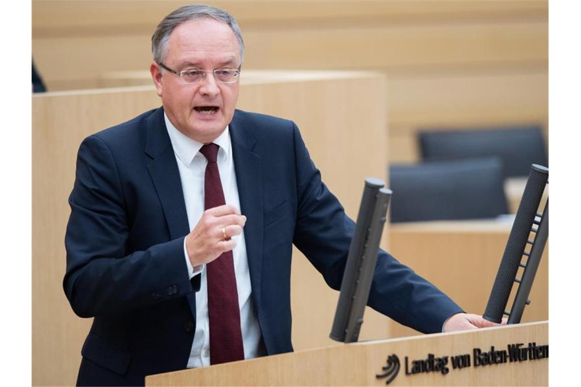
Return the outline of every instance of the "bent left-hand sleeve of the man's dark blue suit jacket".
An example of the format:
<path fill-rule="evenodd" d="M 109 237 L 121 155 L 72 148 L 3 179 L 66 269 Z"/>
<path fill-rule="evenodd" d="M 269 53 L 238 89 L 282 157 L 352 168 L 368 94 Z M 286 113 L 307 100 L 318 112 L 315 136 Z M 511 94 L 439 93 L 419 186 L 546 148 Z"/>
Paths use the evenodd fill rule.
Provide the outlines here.
<path fill-rule="evenodd" d="M 78 151 L 69 204 L 63 288 L 78 316 L 130 312 L 192 291 L 183 237 L 127 252 L 119 171 L 96 136 L 85 139 Z"/>

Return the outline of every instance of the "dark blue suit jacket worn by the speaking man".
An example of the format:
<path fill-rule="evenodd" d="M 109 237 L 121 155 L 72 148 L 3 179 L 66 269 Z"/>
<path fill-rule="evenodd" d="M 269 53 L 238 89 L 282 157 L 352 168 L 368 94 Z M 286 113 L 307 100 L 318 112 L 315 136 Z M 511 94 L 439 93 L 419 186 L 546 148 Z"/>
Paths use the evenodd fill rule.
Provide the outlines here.
<path fill-rule="evenodd" d="M 264 348 L 289 352 L 292 244 L 338 290 L 354 223 L 293 122 L 237 110 L 229 128 Z M 189 280 L 184 259 L 188 219 L 162 108 L 83 141 L 69 202 L 64 291 L 78 316 L 95 317 L 77 383 L 143 385 L 185 368 L 199 276 Z M 368 304 L 422 332 L 461 311 L 384 251 Z"/>

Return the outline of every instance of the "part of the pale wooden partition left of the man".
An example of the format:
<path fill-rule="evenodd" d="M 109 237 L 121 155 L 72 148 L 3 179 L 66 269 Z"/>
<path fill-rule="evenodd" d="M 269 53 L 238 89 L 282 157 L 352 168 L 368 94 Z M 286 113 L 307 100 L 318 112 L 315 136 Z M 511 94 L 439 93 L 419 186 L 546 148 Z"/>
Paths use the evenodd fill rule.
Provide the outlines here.
<path fill-rule="evenodd" d="M 78 146 L 159 104 L 150 88 L 33 97 L 33 385 L 74 385 L 92 319 L 64 296 L 64 231 Z"/>

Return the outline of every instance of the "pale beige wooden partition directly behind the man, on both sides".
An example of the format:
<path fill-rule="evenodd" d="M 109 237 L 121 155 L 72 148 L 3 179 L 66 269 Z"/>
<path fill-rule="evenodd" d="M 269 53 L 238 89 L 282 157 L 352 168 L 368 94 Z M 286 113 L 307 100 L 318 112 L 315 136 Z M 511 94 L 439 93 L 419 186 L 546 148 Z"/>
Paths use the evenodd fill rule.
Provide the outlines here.
<path fill-rule="evenodd" d="M 377 74 L 305 78 L 310 80 L 297 76 L 242 85 L 239 107 L 295 120 L 323 179 L 347 213 L 356 216 L 364 178 L 385 175 L 385 79 Z M 370 96 L 371 102 L 358 95 Z M 33 97 L 33 385 L 74 384 L 91 324 L 73 314 L 62 290 L 67 197 L 78 146 L 85 136 L 157 106 L 152 86 Z M 354 118 L 352 109 L 360 116 Z M 338 293 L 299 252 L 294 258 L 295 348 L 328 345 Z M 361 337 L 388 335 L 386 318 L 368 312 Z"/>

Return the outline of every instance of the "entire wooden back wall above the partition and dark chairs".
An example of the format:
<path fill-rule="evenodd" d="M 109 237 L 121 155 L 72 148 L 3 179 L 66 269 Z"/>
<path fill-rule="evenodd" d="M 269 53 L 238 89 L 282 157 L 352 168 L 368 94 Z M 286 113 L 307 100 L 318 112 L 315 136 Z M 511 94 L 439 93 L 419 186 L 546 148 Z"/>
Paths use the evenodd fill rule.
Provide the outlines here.
<path fill-rule="evenodd" d="M 159 20 L 187 2 L 33 1 L 33 56 L 49 89 L 146 70 Z M 388 75 L 390 162 L 418 160 L 420 126 L 540 124 L 548 138 L 547 1 L 216 1 L 246 69 Z M 106 83 L 106 82 L 105 82 Z"/>

